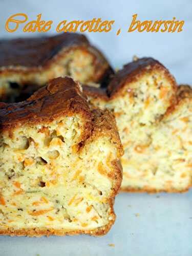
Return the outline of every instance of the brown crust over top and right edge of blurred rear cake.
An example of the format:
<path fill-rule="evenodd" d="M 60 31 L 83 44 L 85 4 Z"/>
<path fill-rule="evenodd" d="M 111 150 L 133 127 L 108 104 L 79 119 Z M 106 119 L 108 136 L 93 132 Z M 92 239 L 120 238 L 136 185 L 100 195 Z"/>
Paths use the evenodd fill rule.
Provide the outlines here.
<path fill-rule="evenodd" d="M 91 46 L 87 37 L 77 33 L 56 36 L 0 40 L 0 75 L 31 73 L 49 69 L 70 50 L 79 49 L 94 57 L 94 81 L 105 82 L 113 73 L 102 53 Z M 61 56 L 62 55 L 62 56 Z"/>

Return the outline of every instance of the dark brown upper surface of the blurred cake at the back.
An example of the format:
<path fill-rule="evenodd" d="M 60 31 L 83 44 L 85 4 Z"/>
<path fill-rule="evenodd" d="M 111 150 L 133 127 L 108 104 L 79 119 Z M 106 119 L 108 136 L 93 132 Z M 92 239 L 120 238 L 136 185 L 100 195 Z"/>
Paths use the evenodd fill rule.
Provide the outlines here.
<path fill-rule="evenodd" d="M 56 36 L 17 38 L 0 40 L 0 67 L 44 66 L 62 48 L 89 46 L 84 35 L 62 33 Z"/>

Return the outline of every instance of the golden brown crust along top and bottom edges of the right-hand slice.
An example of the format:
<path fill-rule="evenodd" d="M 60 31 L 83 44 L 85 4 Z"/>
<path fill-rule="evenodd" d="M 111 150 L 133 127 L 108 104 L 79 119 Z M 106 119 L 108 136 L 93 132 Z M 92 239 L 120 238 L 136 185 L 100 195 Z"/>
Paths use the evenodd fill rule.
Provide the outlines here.
<path fill-rule="evenodd" d="M 106 91 L 97 88 L 90 88 L 88 86 L 83 87 L 83 92 L 92 99 L 100 100 L 100 102 L 106 103 L 111 99 L 114 99 L 118 96 L 122 95 L 122 91 L 127 89 L 127 85 L 129 87 L 129 83 L 135 82 L 141 78 L 141 76 L 148 74 L 154 71 L 161 71 L 164 73 L 167 80 L 170 82 L 173 90 L 173 96 L 170 98 L 169 108 L 167 109 L 166 113 L 161 117 L 164 118 L 169 114 L 172 114 L 173 111 L 177 108 L 179 104 L 184 104 L 186 100 L 190 100 L 192 96 L 192 89 L 189 86 L 177 86 L 177 83 L 172 75 L 168 72 L 168 70 L 161 65 L 160 62 L 153 58 L 142 58 L 136 61 L 125 65 L 122 70 L 117 72 L 115 76 L 111 79 L 109 86 Z M 126 88 L 125 88 L 126 87 Z M 125 90 L 124 90 L 125 89 Z M 94 104 L 94 100 L 93 100 Z M 188 188 L 190 185 L 188 186 Z M 188 188 L 186 188 L 187 191 Z M 121 187 L 121 191 L 126 192 L 147 192 L 147 193 L 158 193 L 158 192 L 182 192 L 180 190 L 167 187 L 164 190 L 157 190 L 151 188 L 150 186 L 144 187 L 142 189 L 132 188 L 132 187 Z"/>

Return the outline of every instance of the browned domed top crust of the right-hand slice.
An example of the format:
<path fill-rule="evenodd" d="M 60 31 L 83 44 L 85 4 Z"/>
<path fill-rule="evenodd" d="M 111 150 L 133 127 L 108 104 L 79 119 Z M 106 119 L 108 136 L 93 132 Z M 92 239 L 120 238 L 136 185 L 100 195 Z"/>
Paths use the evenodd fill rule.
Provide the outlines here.
<path fill-rule="evenodd" d="M 137 81 L 141 75 L 150 73 L 152 71 L 163 71 L 164 75 L 170 80 L 173 88 L 176 86 L 174 77 L 168 72 L 168 70 L 154 58 L 144 57 L 132 61 L 125 65 L 122 70 L 118 71 L 108 86 L 108 95 L 113 97 L 117 92 L 124 87 L 126 83 Z"/>

